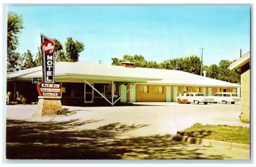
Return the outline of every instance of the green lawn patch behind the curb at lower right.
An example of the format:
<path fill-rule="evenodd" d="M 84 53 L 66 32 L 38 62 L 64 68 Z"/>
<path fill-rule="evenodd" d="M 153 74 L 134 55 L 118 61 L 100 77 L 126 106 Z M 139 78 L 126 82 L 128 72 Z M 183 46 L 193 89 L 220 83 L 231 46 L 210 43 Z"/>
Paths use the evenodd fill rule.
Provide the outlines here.
<path fill-rule="evenodd" d="M 191 127 L 177 133 L 189 137 L 250 144 L 250 127 L 195 123 Z"/>

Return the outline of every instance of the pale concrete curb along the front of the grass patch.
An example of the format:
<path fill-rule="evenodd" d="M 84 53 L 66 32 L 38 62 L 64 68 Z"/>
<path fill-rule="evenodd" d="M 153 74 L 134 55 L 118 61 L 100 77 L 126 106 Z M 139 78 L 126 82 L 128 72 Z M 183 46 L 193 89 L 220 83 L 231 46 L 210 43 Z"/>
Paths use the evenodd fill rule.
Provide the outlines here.
<path fill-rule="evenodd" d="M 190 143 L 190 144 L 204 145 L 206 147 L 225 147 L 230 149 L 250 150 L 250 145 L 247 145 L 247 144 L 232 143 L 232 142 L 226 142 L 226 141 L 216 141 L 216 140 L 210 140 L 210 139 L 201 139 L 201 138 L 195 138 L 195 137 L 182 136 L 179 134 L 173 135 L 171 139 L 175 141 L 186 141 L 187 143 Z"/>

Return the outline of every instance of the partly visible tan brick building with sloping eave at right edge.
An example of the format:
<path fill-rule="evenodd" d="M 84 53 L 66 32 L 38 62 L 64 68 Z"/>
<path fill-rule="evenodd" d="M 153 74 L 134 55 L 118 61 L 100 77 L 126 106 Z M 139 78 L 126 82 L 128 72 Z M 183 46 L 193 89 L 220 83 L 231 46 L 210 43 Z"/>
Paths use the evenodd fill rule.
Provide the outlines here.
<path fill-rule="evenodd" d="M 241 73 L 241 119 L 250 120 L 250 52 L 230 65 L 230 70 L 240 69 Z"/>

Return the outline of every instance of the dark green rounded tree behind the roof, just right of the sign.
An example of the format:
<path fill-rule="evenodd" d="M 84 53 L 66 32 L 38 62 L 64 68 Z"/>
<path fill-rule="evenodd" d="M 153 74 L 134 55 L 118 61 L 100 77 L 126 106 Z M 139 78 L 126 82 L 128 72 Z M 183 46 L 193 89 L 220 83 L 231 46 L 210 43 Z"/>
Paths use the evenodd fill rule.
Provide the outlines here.
<path fill-rule="evenodd" d="M 72 37 L 67 38 L 65 42 L 66 58 L 70 62 L 77 62 L 79 58 L 79 53 L 84 51 L 84 44 L 82 42 L 74 42 Z"/>

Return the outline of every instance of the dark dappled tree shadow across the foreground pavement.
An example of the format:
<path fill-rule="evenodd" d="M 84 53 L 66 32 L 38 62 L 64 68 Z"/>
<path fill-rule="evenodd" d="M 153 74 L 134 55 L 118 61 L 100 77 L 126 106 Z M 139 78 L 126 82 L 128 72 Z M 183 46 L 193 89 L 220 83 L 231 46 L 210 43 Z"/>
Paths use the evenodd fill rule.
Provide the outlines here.
<path fill-rule="evenodd" d="M 96 129 L 81 126 L 102 120 L 28 122 L 7 119 L 7 159 L 226 159 L 206 155 L 206 148 L 170 140 L 170 135 L 120 138 L 148 125 L 111 123 Z"/>

